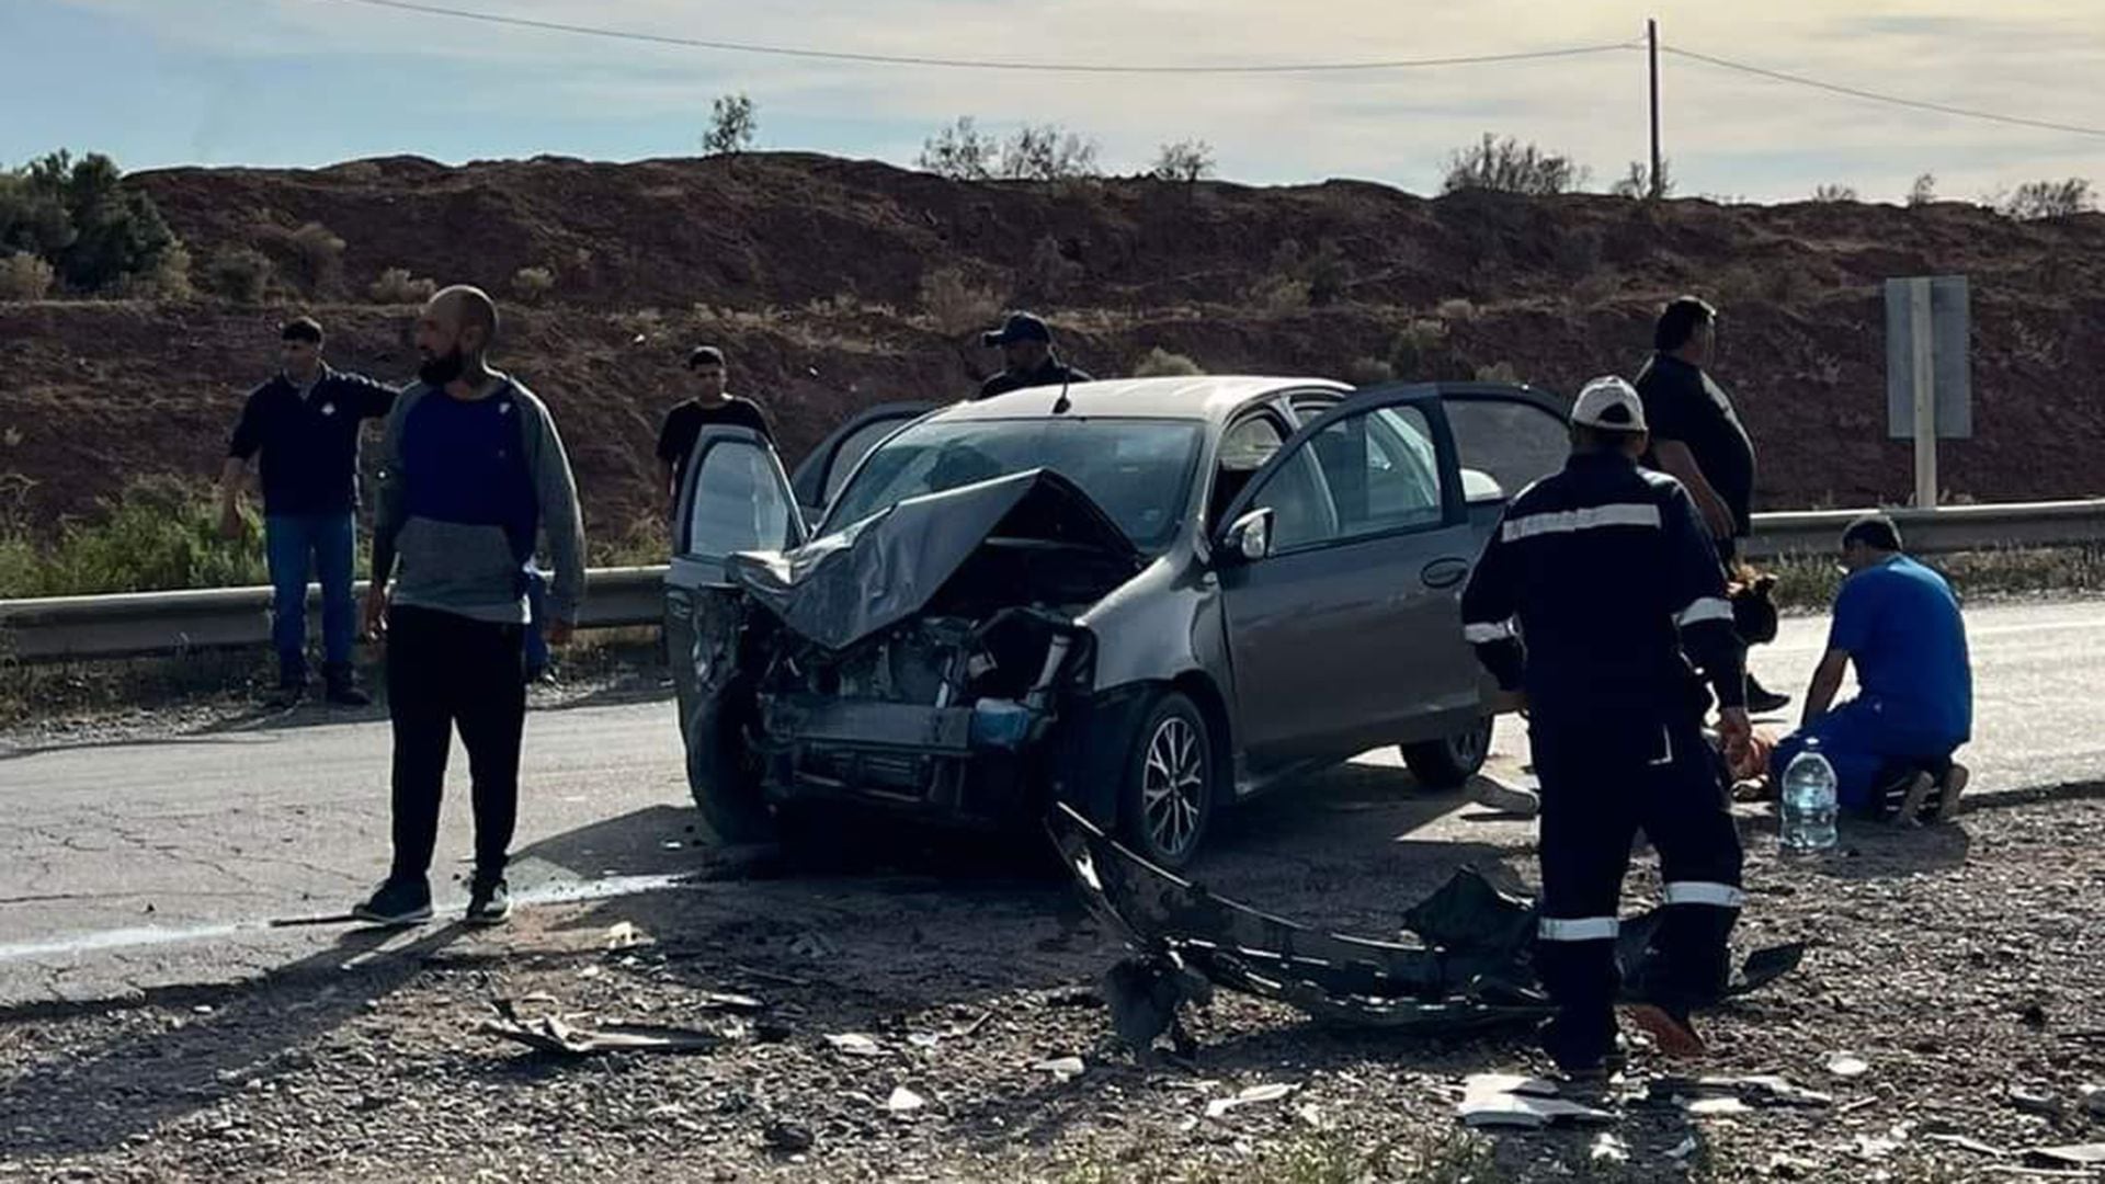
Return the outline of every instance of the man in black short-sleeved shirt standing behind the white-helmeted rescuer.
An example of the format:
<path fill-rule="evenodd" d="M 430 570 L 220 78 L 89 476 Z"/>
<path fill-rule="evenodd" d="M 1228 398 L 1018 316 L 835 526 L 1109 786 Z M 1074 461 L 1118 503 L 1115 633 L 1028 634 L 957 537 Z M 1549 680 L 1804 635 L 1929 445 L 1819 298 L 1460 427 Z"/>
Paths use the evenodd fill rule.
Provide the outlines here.
<path fill-rule="evenodd" d="M 1732 398 L 1703 369 L 1718 348 L 1718 310 L 1684 295 L 1667 303 L 1652 327 L 1652 358 L 1638 373 L 1638 398 L 1652 447 L 1644 466 L 1688 489 L 1732 577 L 1739 539 L 1753 533 L 1753 440 Z M 1747 678 L 1747 708 L 1779 712 L 1789 695 Z"/>

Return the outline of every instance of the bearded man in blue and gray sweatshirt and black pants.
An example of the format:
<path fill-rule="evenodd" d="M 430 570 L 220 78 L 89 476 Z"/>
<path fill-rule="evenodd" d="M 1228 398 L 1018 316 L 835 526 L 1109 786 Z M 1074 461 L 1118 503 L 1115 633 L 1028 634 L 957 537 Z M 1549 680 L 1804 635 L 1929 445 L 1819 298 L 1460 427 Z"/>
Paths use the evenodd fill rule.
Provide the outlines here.
<path fill-rule="evenodd" d="M 450 287 L 417 320 L 423 364 L 381 445 L 366 630 L 387 638 L 394 721 L 394 870 L 354 912 L 432 919 L 432 849 L 459 729 L 474 777 L 476 874 L 467 921 L 512 914 L 505 857 L 526 725 L 526 569 L 547 533 L 547 640 L 564 645 L 585 590 L 577 482 L 547 407 L 488 367 L 497 305 Z M 389 581 L 394 588 L 389 590 Z"/>

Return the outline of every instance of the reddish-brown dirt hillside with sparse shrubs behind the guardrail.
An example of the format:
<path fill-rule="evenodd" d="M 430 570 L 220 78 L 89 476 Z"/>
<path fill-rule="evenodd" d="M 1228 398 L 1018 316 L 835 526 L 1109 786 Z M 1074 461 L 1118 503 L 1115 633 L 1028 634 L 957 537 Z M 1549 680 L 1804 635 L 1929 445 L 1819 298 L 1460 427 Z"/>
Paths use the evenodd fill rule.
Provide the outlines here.
<path fill-rule="evenodd" d="M 499 293 L 503 360 L 556 407 L 600 529 L 648 506 L 653 430 L 688 346 L 722 343 L 798 453 L 853 407 L 966 392 L 996 364 L 970 329 L 1002 303 L 1046 312 L 1099 375 L 1162 346 L 1217 373 L 1354 377 L 1381 360 L 1398 377 L 1501 371 L 1568 392 L 1629 373 L 1659 301 L 1699 291 L 1726 310 L 1718 375 L 1762 453 L 1760 501 L 1892 501 L 1911 478 L 1907 447 L 1884 438 L 1880 280 L 1951 272 L 1972 280 L 1979 436 L 1945 447 L 1947 491 L 2105 493 L 2105 404 L 2086 390 L 2105 364 L 2099 215 L 1425 200 L 1341 181 L 964 185 L 817 156 L 385 158 L 133 181 L 200 272 L 261 246 L 280 280 L 263 308 L 0 305 L 0 482 L 32 522 L 86 512 L 128 474 L 210 472 L 293 308 L 324 318 L 337 364 L 406 377 L 410 310 L 368 295 L 387 268 Z M 343 238 L 341 259 L 288 255 L 282 232 L 309 221 Z M 533 305 L 512 299 L 522 268 L 554 274 Z M 930 299 L 939 272 L 977 291 Z"/>

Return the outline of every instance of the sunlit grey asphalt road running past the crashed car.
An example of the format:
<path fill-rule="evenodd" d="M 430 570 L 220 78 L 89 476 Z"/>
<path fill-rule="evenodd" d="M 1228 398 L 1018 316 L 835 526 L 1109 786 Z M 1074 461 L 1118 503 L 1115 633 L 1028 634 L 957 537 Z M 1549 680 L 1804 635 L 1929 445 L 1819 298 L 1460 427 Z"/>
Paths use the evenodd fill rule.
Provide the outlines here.
<path fill-rule="evenodd" d="M 1970 630 L 1979 718 L 1964 758 L 1974 790 L 2105 777 L 2105 708 L 2090 674 L 2105 659 L 2105 603 L 1977 609 Z M 1823 632 L 1825 621 L 1785 621 L 1779 643 L 1756 651 L 1756 670 L 1796 693 Z M 0 830 L 0 1005 L 105 999 L 337 956 L 339 929 L 267 923 L 341 912 L 385 872 L 389 744 L 377 714 L 312 721 L 0 748 L 11 822 Z M 1377 752 L 1360 763 L 1396 758 Z M 1522 763 L 1520 729 L 1503 727 L 1495 769 L 1516 775 Z M 634 891 L 697 866 L 667 702 L 535 712 L 524 769 L 512 876 L 524 902 Z M 1309 790 L 1349 775 L 1320 775 Z M 465 895 L 459 750 L 450 794 L 434 874 L 442 910 Z M 1461 798 L 1450 805 L 1448 815 L 1471 809 Z M 1290 815 L 1280 807 L 1271 813 Z M 1427 811 L 1419 838 L 1440 832 L 1438 813 Z"/>

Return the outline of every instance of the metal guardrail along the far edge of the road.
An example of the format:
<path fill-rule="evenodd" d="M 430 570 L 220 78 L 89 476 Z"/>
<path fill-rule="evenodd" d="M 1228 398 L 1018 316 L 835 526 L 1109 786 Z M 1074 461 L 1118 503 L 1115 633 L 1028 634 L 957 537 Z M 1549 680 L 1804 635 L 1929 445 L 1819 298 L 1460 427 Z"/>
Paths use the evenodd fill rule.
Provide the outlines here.
<path fill-rule="evenodd" d="M 1753 537 L 1745 550 L 1756 558 L 1825 554 L 1859 514 L 1863 510 L 1756 514 Z M 1947 506 L 1890 514 L 1907 539 L 1907 550 L 1918 554 L 2105 544 L 2105 499 Z M 663 617 L 663 567 L 592 569 L 579 628 L 657 624 Z M 364 596 L 364 584 L 356 594 Z M 0 657 L 53 662 L 263 645 L 269 640 L 269 588 L 0 600 Z M 307 605 L 309 611 L 320 609 L 318 590 L 307 590 Z"/>

